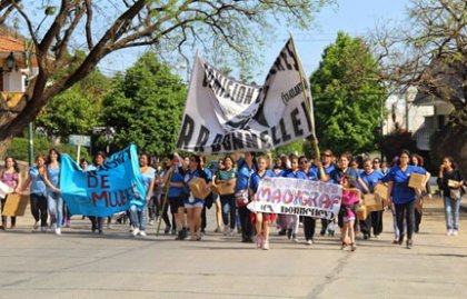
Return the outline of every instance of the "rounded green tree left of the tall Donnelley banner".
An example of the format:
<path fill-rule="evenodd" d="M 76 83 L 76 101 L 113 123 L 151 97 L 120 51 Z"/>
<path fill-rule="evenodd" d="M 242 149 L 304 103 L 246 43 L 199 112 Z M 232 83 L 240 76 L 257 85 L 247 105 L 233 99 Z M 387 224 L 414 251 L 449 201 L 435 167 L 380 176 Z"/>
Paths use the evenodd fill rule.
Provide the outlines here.
<path fill-rule="evenodd" d="M 105 98 L 103 121 L 116 130 L 112 144 L 137 144 L 152 155 L 173 151 L 185 104 L 186 86 L 153 53 L 146 53 L 117 76 Z"/>

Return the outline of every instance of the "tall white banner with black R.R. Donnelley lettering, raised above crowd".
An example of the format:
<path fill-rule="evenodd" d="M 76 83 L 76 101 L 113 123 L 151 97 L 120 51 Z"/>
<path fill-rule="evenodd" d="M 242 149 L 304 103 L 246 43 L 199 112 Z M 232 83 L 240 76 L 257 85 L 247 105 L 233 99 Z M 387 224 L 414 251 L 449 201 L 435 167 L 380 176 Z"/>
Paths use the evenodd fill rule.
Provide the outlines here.
<path fill-rule="evenodd" d="M 291 40 L 262 87 L 232 80 L 197 57 L 177 148 L 262 151 L 309 137 L 315 131 L 312 104 L 302 92 L 304 87 L 309 92 L 309 84 L 299 69 Z"/>

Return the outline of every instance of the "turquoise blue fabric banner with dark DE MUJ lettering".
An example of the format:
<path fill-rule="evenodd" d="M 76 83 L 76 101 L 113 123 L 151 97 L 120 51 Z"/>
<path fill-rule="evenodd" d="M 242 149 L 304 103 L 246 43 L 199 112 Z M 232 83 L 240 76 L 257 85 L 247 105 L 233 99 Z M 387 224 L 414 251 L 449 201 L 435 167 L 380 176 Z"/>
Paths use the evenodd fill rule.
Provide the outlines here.
<path fill-rule="evenodd" d="M 145 206 L 146 190 L 136 146 L 113 153 L 96 170 L 82 171 L 61 155 L 60 190 L 72 215 L 106 217 Z"/>

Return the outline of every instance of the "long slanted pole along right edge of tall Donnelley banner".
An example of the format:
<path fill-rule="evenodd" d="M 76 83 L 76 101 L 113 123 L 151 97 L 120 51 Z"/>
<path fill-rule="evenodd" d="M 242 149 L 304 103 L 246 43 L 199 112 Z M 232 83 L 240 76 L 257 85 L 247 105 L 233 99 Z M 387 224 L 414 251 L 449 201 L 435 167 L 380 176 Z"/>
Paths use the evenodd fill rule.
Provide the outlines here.
<path fill-rule="evenodd" d="M 298 58 L 297 48 L 295 47 L 295 41 L 294 41 L 294 37 L 292 37 L 291 33 L 290 33 L 290 41 L 291 41 L 292 49 L 294 49 L 294 56 L 295 56 L 295 59 L 297 61 L 298 73 L 300 76 L 300 82 L 301 82 L 301 89 L 302 89 L 304 96 L 305 96 L 305 107 L 306 107 L 308 116 L 309 116 L 308 122 L 310 124 L 311 133 L 312 133 L 311 144 L 312 144 L 312 148 L 315 150 L 316 158 L 319 161 L 319 166 L 318 166 L 319 176 L 321 177 L 321 180 L 324 180 L 326 178 L 326 172 L 325 172 L 325 169 L 322 168 L 322 163 L 321 163 L 321 153 L 319 151 L 318 137 L 316 136 L 316 130 L 315 130 L 315 117 L 311 112 L 311 94 L 309 94 L 307 84 L 305 83 L 306 82 L 305 81 L 306 76 L 305 76 L 304 69 L 301 67 L 300 59 Z"/>

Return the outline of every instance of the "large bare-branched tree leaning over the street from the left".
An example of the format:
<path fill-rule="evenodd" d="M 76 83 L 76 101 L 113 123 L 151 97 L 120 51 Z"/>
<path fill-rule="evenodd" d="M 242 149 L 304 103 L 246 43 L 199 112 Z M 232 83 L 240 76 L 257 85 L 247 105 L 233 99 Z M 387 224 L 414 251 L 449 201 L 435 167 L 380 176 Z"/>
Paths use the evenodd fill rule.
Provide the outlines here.
<path fill-rule="evenodd" d="M 209 49 L 207 41 L 218 38 L 247 58 L 251 44 L 272 32 L 279 20 L 306 28 L 312 14 L 329 2 L 334 1 L 0 0 L 0 24 L 24 28 L 39 68 L 23 108 L 0 114 L 0 156 L 50 99 L 82 80 L 113 51 L 151 46 L 173 56 L 187 47 Z M 52 81 L 57 70 L 70 68 L 67 54 L 71 48 L 82 49 L 85 59 Z"/>

